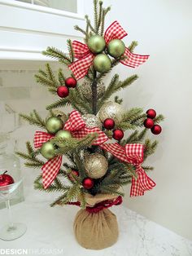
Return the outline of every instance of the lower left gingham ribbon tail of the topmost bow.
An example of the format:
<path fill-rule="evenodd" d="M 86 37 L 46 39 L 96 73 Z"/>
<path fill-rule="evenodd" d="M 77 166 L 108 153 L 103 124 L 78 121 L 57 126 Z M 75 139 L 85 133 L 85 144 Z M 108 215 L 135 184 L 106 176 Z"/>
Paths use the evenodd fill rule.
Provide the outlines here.
<path fill-rule="evenodd" d="M 82 77 L 85 77 L 85 75 L 88 73 L 89 67 L 91 66 L 93 60 L 94 55 L 92 53 L 89 53 L 85 55 L 84 58 L 76 60 L 75 62 L 70 64 L 68 68 L 72 70 L 72 73 L 76 77 L 76 80 L 79 80 Z"/>

